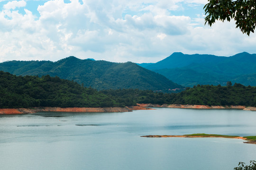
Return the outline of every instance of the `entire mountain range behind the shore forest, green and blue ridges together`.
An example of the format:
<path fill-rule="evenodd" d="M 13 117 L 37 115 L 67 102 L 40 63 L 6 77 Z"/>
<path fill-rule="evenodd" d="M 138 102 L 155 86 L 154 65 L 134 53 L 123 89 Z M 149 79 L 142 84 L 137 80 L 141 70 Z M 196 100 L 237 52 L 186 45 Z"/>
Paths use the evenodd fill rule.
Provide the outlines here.
<path fill-rule="evenodd" d="M 227 85 L 228 81 L 256 86 L 256 54 L 224 57 L 174 52 L 156 63 L 115 63 L 77 59 L 52 61 L 6 61 L 0 70 L 14 75 L 50 75 L 73 80 L 86 87 L 169 91 L 194 85 Z M 174 83 L 175 82 L 175 83 Z"/>

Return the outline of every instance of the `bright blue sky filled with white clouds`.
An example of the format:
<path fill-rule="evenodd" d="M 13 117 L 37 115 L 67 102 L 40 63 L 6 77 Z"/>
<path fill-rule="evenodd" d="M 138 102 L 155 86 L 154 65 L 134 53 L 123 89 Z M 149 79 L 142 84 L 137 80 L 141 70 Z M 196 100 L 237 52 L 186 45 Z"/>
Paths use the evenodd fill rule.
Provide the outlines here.
<path fill-rule="evenodd" d="M 256 53 L 235 22 L 204 25 L 207 0 L 0 0 L 0 62 L 69 56 L 157 62 L 173 52 Z"/>

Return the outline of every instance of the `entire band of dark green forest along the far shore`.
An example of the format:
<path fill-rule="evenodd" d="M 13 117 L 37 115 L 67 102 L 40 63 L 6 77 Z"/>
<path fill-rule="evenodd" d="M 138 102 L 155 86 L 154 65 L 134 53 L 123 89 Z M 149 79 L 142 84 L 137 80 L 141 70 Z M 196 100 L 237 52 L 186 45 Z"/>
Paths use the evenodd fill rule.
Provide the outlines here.
<path fill-rule="evenodd" d="M 136 103 L 256 106 L 256 87 L 229 82 L 228 86 L 197 85 L 181 93 L 152 90 L 97 91 L 49 75 L 15 76 L 0 71 L 0 108 L 113 107 Z"/>

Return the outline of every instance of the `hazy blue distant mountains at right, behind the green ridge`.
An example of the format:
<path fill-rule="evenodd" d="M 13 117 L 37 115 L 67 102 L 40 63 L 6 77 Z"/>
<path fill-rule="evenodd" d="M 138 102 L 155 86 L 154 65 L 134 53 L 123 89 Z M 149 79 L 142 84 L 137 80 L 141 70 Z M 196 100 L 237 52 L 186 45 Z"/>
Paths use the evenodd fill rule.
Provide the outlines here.
<path fill-rule="evenodd" d="M 184 86 L 226 85 L 228 81 L 256 85 L 256 54 L 247 52 L 230 57 L 174 52 L 157 63 L 138 65 Z"/>

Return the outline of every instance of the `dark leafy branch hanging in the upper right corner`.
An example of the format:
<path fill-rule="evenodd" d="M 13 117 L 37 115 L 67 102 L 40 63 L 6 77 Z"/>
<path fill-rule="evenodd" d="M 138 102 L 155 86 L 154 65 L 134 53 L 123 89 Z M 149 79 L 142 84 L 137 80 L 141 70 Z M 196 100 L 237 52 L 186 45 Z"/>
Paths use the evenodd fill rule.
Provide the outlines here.
<path fill-rule="evenodd" d="M 236 21 L 236 28 L 241 32 L 254 33 L 256 26 L 256 1 L 255 0 L 208 0 L 203 8 L 205 11 L 205 24 L 212 25 L 215 20 Z"/>

